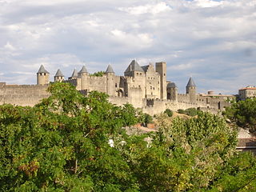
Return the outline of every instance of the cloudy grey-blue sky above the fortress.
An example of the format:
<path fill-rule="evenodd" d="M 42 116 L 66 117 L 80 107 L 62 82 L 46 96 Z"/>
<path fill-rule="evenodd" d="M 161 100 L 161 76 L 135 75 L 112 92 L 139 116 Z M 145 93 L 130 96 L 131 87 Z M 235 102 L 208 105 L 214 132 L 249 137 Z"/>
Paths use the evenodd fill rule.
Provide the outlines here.
<path fill-rule="evenodd" d="M 190 76 L 200 93 L 256 85 L 256 0 L 0 0 L 0 82 L 35 84 L 42 64 L 123 75 L 134 58 L 165 61 L 181 93 Z"/>

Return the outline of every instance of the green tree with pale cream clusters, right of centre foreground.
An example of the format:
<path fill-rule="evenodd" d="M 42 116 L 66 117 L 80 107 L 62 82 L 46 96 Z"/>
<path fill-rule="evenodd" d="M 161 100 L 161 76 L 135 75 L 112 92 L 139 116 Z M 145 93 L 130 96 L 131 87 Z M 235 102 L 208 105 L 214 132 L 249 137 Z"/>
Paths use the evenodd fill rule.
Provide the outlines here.
<path fill-rule="evenodd" d="M 198 118 L 174 118 L 171 124 L 162 117 L 158 118 L 159 130 L 150 148 L 133 161 L 140 189 L 210 190 L 235 157 L 237 130 L 226 126 L 223 118 L 203 112 Z M 228 182 L 222 186 L 228 186 Z"/>

